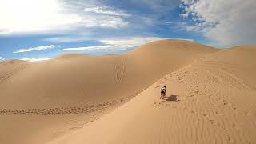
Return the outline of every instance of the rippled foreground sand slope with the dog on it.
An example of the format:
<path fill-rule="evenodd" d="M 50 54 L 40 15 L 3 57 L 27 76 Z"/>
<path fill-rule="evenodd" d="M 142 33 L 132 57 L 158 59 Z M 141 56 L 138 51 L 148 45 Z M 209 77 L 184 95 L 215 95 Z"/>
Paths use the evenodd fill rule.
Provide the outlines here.
<path fill-rule="evenodd" d="M 199 58 L 50 143 L 256 143 L 255 54 L 255 46 L 238 46 Z"/>

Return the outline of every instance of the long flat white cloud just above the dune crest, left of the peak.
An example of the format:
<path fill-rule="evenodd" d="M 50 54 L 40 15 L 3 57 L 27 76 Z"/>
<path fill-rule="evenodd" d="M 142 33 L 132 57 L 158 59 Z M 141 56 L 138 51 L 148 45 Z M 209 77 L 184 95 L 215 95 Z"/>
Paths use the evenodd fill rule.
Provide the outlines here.
<path fill-rule="evenodd" d="M 104 46 L 86 46 L 86 47 L 74 47 L 65 48 L 66 50 L 126 50 L 134 46 L 141 46 L 147 42 L 154 42 L 166 38 L 158 37 L 134 37 L 134 38 L 123 38 L 123 39 L 102 39 L 98 42 L 102 43 Z"/>

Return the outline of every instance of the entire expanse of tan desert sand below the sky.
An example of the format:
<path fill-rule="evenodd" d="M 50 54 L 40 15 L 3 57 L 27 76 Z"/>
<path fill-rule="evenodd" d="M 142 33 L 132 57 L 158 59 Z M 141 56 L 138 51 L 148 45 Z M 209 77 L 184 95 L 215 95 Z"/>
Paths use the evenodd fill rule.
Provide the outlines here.
<path fill-rule="evenodd" d="M 1 63 L 0 139 L 256 143 L 255 54 L 256 46 L 163 40 L 122 55 Z"/>

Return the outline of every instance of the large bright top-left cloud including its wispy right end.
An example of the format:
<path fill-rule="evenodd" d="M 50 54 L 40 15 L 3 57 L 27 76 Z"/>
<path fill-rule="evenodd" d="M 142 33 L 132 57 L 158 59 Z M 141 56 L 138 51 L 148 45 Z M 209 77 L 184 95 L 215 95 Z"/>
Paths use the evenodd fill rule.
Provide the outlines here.
<path fill-rule="evenodd" d="M 98 14 L 87 14 L 60 0 L 0 0 L 0 35 L 59 34 L 96 26 L 119 28 L 128 25 L 119 16 L 127 15 L 120 10 L 101 8 L 98 8 Z"/>

